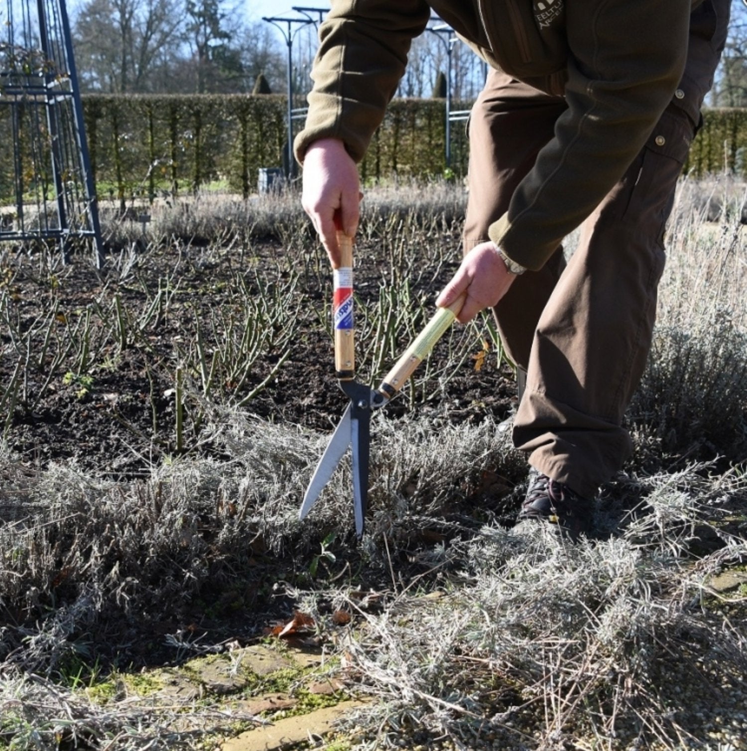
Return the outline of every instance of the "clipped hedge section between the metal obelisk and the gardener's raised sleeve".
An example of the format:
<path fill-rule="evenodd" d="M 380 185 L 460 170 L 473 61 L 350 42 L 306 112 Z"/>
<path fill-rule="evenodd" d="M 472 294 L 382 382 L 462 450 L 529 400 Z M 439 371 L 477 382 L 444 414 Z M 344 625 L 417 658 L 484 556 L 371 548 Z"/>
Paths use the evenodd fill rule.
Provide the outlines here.
<path fill-rule="evenodd" d="M 86 95 L 99 193 L 125 201 L 225 180 L 247 196 L 261 167 L 281 164 L 285 111 L 273 95 Z"/>

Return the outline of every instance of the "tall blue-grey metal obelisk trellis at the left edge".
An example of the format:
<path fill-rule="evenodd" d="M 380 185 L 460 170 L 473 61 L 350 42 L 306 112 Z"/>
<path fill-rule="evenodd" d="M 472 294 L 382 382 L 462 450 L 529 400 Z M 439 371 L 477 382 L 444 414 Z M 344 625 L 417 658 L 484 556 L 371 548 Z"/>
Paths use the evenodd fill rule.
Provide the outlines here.
<path fill-rule="evenodd" d="M 65 0 L 0 0 L 0 240 L 101 230 Z"/>

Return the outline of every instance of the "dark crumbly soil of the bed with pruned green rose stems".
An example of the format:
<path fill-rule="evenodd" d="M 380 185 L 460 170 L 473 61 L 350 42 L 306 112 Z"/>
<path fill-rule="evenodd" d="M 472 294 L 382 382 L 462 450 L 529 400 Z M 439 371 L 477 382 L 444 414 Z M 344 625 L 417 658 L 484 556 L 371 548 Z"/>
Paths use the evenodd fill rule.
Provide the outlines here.
<path fill-rule="evenodd" d="M 209 337 L 217 329 L 206 332 L 208 321 L 221 309 L 236 309 L 242 294 L 236 288 L 240 276 L 248 280 L 249 294 L 255 291 L 257 267 L 276 288 L 292 283 L 277 240 L 258 243 L 252 250 L 255 258 L 246 269 L 233 252 L 206 251 L 194 243 L 186 251 L 149 250 L 138 259 L 134 272 L 121 281 L 111 268 L 112 258 L 101 272 L 92 267 L 89 258 L 80 256 L 68 266 L 52 270 L 33 252 L 10 252 L 0 258 L 0 285 L 7 293 L 0 325 L 2 391 L 13 382 L 19 365 L 23 371 L 23 377 L 17 378 L 15 409 L 6 425 L 10 451 L 21 462 L 39 468 L 52 461 L 75 460 L 94 475 L 119 478 L 140 475 L 164 456 L 176 454 L 176 364 L 180 358 L 197 361 L 198 321 L 209 349 Z M 382 274 L 380 263 L 366 262 L 365 246 L 357 249 L 357 254 L 356 294 L 361 309 L 374 303 Z M 435 300 L 454 267 L 456 264 L 444 268 L 438 279 L 429 282 L 429 289 L 416 291 Z M 327 283 L 327 279 L 321 281 Z M 114 298 L 125 318 L 136 321 L 146 317 L 159 289 L 167 284 L 173 291 L 169 303 L 137 333 L 132 333 L 136 324 L 129 323 L 128 341 L 122 346 Z M 284 312 L 298 332 L 288 345 L 290 356 L 267 387 L 242 407 L 245 412 L 322 431 L 330 430 L 342 415 L 346 397 L 337 388 L 330 337 L 321 322 L 327 294 L 328 287 L 298 282 L 298 305 Z M 35 333 L 24 340 L 33 329 Z M 400 341 L 397 356 L 408 344 L 407 339 Z M 359 348 L 365 343 L 357 342 Z M 471 351 L 444 391 L 447 419 L 480 421 L 488 414 L 498 420 L 505 418 L 515 400 L 511 369 L 496 365 L 495 354 L 483 350 L 477 333 L 463 345 Z M 80 366 L 84 347 L 89 348 L 89 354 Z M 66 348 L 67 354 L 62 354 Z M 242 391 L 232 392 L 232 385 L 223 383 L 212 389 L 211 396 L 235 403 L 267 378 L 281 355 L 282 351 L 269 348 L 258 357 Z M 440 351 L 436 348 L 436 359 L 445 356 L 445 345 Z M 387 368 L 393 362 L 387 362 Z M 196 369 L 185 369 L 185 379 L 185 391 L 196 388 Z M 9 401 L 6 399 L 6 406 Z M 387 412 L 428 412 L 439 409 L 440 402 L 441 397 L 432 394 L 427 403 L 413 408 L 400 396 Z M 197 403 L 185 398 L 183 452 L 212 450 L 209 442 L 200 440 L 198 409 Z M 2 420 L 5 422 L 5 416 Z"/>

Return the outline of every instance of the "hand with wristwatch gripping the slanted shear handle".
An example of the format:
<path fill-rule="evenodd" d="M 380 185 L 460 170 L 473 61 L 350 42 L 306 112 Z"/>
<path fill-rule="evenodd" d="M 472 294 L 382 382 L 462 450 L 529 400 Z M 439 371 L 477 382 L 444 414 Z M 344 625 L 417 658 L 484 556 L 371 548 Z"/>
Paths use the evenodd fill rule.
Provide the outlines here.
<path fill-rule="evenodd" d="M 471 321 L 480 310 L 492 307 L 506 294 L 516 274 L 512 274 L 498 254 L 494 243 L 480 243 L 465 255 L 462 265 L 444 287 L 435 304 L 450 306 L 462 292 L 467 293 L 456 320 L 462 324 Z"/>

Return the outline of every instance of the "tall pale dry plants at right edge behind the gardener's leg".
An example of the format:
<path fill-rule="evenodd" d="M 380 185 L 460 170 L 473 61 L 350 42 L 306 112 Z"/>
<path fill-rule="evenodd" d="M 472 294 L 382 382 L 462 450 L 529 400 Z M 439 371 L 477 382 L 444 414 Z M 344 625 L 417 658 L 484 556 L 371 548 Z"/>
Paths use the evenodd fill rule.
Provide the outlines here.
<path fill-rule="evenodd" d="M 716 199 L 726 219 L 705 222 Z M 728 179 L 685 181 L 670 221 L 654 348 L 631 409 L 670 454 L 747 456 L 744 202 Z"/>

